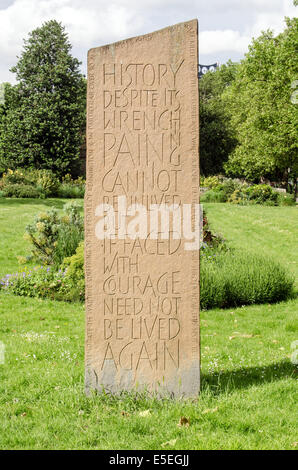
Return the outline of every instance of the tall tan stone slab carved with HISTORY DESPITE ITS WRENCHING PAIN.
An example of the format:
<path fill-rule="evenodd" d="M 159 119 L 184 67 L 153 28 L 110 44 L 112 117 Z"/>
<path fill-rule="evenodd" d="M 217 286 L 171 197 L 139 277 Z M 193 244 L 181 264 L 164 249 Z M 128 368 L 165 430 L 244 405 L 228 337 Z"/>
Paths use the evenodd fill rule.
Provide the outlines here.
<path fill-rule="evenodd" d="M 87 392 L 199 392 L 197 74 L 197 20 L 89 51 Z"/>

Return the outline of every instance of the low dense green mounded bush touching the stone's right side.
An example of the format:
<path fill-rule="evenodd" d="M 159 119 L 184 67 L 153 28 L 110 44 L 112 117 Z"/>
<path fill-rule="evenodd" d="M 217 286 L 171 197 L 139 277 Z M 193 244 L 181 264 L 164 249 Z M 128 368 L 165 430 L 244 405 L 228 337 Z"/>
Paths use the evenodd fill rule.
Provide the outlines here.
<path fill-rule="evenodd" d="M 262 256 L 229 251 L 201 257 L 202 309 L 280 302 L 293 285 L 278 263 Z"/>

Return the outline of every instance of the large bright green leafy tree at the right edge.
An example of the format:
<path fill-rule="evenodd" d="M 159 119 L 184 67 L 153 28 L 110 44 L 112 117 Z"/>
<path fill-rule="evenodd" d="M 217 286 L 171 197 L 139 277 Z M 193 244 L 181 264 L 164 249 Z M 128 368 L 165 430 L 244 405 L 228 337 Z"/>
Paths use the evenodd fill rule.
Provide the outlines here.
<path fill-rule="evenodd" d="M 284 182 L 290 177 L 295 185 L 298 113 L 291 95 L 298 77 L 297 35 L 297 18 L 286 18 L 277 37 L 262 33 L 223 95 L 239 141 L 225 165 L 230 175 Z"/>

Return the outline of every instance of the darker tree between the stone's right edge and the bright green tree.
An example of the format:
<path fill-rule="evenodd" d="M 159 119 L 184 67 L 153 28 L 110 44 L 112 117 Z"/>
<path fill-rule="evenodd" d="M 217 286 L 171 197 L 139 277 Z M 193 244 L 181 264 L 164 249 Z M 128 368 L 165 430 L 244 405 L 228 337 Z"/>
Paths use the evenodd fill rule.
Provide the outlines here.
<path fill-rule="evenodd" d="M 221 96 L 235 79 L 237 64 L 228 62 L 200 79 L 200 171 L 204 176 L 223 171 L 235 148 L 235 133 Z"/>

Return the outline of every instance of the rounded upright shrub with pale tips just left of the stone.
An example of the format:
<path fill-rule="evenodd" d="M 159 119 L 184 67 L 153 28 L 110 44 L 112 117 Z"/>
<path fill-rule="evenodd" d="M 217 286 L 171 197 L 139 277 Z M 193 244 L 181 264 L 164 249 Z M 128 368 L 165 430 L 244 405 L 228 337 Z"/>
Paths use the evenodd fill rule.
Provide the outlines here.
<path fill-rule="evenodd" d="M 32 246 L 33 257 L 43 264 L 60 265 L 65 257 L 75 253 L 84 237 L 84 221 L 81 206 L 68 203 L 65 214 L 56 209 L 40 213 L 27 225 L 25 237 Z"/>

